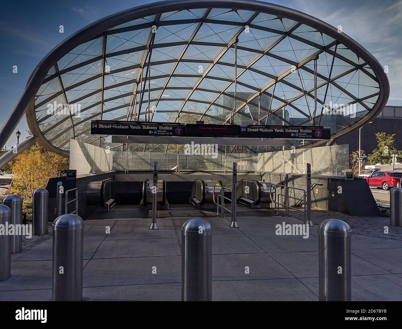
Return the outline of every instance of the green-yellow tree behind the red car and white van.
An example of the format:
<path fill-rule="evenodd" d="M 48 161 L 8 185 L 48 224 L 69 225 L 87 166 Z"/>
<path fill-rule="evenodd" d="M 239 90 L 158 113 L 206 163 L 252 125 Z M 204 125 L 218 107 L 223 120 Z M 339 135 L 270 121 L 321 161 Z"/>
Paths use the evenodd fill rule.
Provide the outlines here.
<path fill-rule="evenodd" d="M 398 157 L 401 157 L 402 152 L 398 151 L 395 147 L 395 134 L 388 135 L 387 133 L 376 133 L 377 148 L 368 155 L 368 161 L 372 165 L 376 163 L 389 164 L 392 162 L 392 153 L 398 153 Z"/>

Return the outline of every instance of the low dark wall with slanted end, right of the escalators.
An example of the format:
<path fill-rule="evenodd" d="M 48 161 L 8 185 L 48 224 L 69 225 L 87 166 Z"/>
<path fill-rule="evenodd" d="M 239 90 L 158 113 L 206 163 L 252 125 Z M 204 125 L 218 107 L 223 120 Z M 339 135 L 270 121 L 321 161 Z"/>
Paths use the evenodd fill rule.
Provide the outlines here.
<path fill-rule="evenodd" d="M 263 173 L 262 178 L 273 184 L 285 184 L 286 186 L 306 189 L 306 175 L 303 174 L 267 172 Z M 312 175 L 312 186 L 314 183 L 322 183 L 323 185 L 313 188 L 311 193 L 313 207 L 351 216 L 380 215 L 373 194 L 371 194 L 367 182 L 362 178 L 345 180 L 345 178 L 337 176 Z M 290 189 L 289 192 L 289 195 L 297 198 L 302 196 L 301 191 Z"/>

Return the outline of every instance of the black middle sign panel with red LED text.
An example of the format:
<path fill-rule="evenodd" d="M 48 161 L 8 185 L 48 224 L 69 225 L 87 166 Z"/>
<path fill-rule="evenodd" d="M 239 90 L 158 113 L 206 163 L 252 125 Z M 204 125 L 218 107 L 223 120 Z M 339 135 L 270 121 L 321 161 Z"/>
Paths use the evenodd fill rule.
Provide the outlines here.
<path fill-rule="evenodd" d="M 193 137 L 238 137 L 238 125 L 196 125 L 186 124 L 186 136 Z"/>

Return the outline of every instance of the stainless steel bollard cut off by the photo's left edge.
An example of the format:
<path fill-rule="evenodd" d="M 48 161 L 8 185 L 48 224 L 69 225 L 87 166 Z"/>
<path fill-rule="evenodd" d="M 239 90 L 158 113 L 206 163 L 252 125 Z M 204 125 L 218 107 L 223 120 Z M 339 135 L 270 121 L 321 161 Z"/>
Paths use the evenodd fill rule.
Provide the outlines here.
<path fill-rule="evenodd" d="M 11 222 L 11 209 L 0 204 L 0 224 L 8 231 Z M 11 276 L 11 236 L 0 234 L 0 281 L 7 280 Z"/>

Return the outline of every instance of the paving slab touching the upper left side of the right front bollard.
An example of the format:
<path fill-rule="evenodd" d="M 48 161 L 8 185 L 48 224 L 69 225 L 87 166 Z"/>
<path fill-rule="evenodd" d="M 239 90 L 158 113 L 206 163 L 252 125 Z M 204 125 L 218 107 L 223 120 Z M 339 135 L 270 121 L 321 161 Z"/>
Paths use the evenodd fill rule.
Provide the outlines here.
<path fill-rule="evenodd" d="M 250 237 L 250 239 L 267 253 L 318 250 L 318 238 L 314 235 L 309 235 L 307 239 L 301 235 L 275 235 Z"/>

